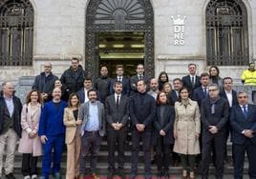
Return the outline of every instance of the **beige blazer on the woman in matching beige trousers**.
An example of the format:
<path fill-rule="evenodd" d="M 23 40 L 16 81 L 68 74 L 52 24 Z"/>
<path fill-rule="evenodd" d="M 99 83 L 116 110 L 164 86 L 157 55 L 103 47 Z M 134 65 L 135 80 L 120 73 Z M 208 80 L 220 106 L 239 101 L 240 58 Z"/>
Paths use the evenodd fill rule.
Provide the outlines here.
<path fill-rule="evenodd" d="M 75 138 L 75 132 L 77 126 L 75 124 L 75 116 L 73 113 L 73 109 L 65 108 L 64 109 L 64 118 L 63 118 L 64 125 L 66 126 L 66 138 L 65 143 L 71 144 Z"/>

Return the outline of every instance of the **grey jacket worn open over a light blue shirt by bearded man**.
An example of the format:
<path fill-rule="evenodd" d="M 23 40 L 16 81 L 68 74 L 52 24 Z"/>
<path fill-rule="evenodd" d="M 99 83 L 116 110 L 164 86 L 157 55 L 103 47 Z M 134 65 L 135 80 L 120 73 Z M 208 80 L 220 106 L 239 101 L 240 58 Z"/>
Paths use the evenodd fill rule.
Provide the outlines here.
<path fill-rule="evenodd" d="M 79 109 L 79 119 L 82 119 L 82 125 L 81 125 L 81 129 L 80 129 L 80 133 L 81 136 L 83 136 L 84 134 L 84 128 L 87 125 L 88 122 L 88 116 L 89 116 L 89 103 L 90 101 L 84 103 L 81 105 L 80 109 Z M 102 103 L 100 103 L 99 101 L 96 101 L 96 106 L 97 106 L 97 114 L 98 114 L 98 124 L 99 124 L 99 135 L 100 136 L 104 136 L 105 134 L 105 109 L 104 109 L 104 105 Z"/>

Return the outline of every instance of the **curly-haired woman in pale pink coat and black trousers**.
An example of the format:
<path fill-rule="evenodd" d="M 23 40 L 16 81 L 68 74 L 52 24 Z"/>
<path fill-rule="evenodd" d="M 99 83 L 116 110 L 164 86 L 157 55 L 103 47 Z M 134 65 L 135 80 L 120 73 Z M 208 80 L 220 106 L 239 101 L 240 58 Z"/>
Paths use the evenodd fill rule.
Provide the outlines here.
<path fill-rule="evenodd" d="M 42 155 L 40 138 L 37 135 L 41 114 L 41 94 L 37 90 L 28 93 L 26 104 L 21 112 L 22 135 L 18 151 L 22 155 L 22 174 L 24 179 L 37 178 L 37 158 Z"/>

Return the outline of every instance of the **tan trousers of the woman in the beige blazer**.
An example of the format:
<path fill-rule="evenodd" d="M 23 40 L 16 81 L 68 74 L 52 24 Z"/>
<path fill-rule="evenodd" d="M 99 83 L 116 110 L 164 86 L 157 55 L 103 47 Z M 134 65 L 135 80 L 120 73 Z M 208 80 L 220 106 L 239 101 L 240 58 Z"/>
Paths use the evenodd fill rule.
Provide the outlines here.
<path fill-rule="evenodd" d="M 71 144 L 67 144 L 67 171 L 66 179 L 74 179 L 79 175 L 81 137 L 76 129 L 75 137 Z"/>

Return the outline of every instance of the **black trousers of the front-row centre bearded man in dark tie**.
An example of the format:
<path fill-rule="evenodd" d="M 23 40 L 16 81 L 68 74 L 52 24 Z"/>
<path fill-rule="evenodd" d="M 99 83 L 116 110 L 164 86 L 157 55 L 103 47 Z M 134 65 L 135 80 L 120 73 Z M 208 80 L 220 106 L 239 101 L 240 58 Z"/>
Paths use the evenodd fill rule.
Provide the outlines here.
<path fill-rule="evenodd" d="M 127 129 L 122 128 L 120 130 L 115 130 L 113 128 L 108 128 L 107 130 L 107 140 L 108 140 L 108 163 L 109 170 L 115 169 L 115 150 L 118 151 L 117 163 L 118 169 L 122 170 L 124 165 L 124 149 L 125 141 L 127 136 Z"/>

